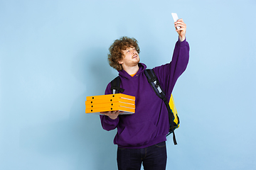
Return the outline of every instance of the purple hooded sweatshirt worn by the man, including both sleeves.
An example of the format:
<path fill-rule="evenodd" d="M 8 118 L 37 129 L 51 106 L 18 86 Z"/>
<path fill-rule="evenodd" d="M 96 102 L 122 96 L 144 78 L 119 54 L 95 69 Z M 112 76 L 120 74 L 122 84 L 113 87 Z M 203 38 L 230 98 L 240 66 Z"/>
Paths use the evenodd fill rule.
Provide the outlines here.
<path fill-rule="evenodd" d="M 154 67 L 156 77 L 166 93 L 166 98 L 171 97 L 174 85 L 185 71 L 188 64 L 189 45 L 186 40 L 176 42 L 172 61 L 168 64 Z M 146 79 L 144 70 L 146 65 L 139 63 L 139 71 L 131 77 L 122 69 L 119 71 L 121 78 L 120 87 L 123 94 L 135 96 L 135 113 L 132 115 L 119 115 L 112 120 L 106 115 L 100 115 L 102 128 L 114 130 L 114 144 L 119 147 L 140 149 L 166 141 L 169 132 L 169 117 L 164 101 L 156 96 L 154 90 Z M 107 85 L 105 94 L 112 94 L 111 85 Z"/>

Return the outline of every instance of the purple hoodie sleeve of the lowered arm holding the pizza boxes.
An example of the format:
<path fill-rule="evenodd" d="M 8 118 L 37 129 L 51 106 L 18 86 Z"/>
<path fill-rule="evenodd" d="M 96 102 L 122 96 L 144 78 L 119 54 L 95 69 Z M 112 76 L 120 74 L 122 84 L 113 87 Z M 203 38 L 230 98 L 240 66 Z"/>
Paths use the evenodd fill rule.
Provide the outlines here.
<path fill-rule="evenodd" d="M 105 94 L 112 94 L 110 84 L 107 84 L 107 89 L 105 91 Z M 102 128 L 107 130 L 107 131 L 110 131 L 110 130 L 114 130 L 115 128 L 117 128 L 117 124 L 119 123 L 119 117 L 112 120 L 107 115 L 100 115 L 100 121 L 101 121 L 101 124 L 102 124 Z"/>

